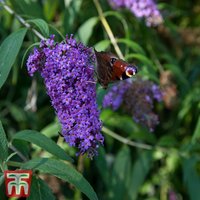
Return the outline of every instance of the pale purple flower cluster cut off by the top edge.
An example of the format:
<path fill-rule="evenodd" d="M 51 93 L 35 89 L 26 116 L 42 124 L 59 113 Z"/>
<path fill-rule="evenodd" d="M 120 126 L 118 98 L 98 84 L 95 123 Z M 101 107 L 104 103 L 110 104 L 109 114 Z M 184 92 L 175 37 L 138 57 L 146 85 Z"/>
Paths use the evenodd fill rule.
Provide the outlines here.
<path fill-rule="evenodd" d="M 114 9 L 125 7 L 137 18 L 144 17 L 147 26 L 157 26 L 163 22 L 153 0 L 109 0 L 109 2 Z"/>

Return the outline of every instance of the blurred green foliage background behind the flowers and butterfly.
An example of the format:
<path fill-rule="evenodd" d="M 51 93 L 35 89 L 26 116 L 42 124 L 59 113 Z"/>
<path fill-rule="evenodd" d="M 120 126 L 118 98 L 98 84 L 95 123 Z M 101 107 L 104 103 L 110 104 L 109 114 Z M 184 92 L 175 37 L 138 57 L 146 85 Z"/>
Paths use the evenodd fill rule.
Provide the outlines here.
<path fill-rule="evenodd" d="M 58 41 L 61 41 L 62 37 L 56 30 L 62 35 L 72 33 L 79 41 L 94 46 L 97 50 L 115 52 L 99 20 L 94 1 L 9 0 L 6 4 L 26 20 L 43 19 L 49 25 L 50 34 L 56 34 Z M 70 148 L 59 137 L 60 126 L 41 77 L 36 76 L 32 80 L 27 74 L 25 52 L 30 45 L 39 41 L 29 30 L 0 91 L 0 119 L 8 141 L 12 141 L 11 147 L 14 146 L 18 153 L 21 152 L 26 161 L 39 157 L 52 157 L 48 152 L 54 150 L 54 146 L 50 145 L 49 149 L 39 148 L 38 146 L 43 147 L 44 143 L 37 146 L 30 144 L 27 141 L 38 143 L 30 138 L 24 141 L 24 135 L 21 139 L 20 136 L 18 140 L 13 139 L 17 138 L 15 134 L 22 130 L 41 132 L 73 157 L 73 165 L 91 184 L 99 199 L 199 200 L 200 5 L 198 1 L 158 1 L 164 24 L 156 28 L 146 27 L 143 20 L 136 19 L 125 9 L 113 10 L 106 0 L 101 0 L 100 5 L 123 55 L 126 60 L 137 63 L 140 76 L 159 84 L 164 71 L 169 70 L 173 74 L 174 84 L 177 87 L 176 103 L 171 107 L 166 107 L 164 103 L 156 105 L 160 124 L 154 133 L 149 133 L 148 130 L 135 124 L 123 111 L 102 110 L 105 146 L 100 149 L 99 156 L 94 160 L 89 160 L 85 156 L 78 158 L 75 156 L 76 150 Z M 9 34 L 23 27 L 16 17 L 9 14 L 2 6 L 0 20 L 1 43 Z M 46 24 L 43 21 L 40 21 L 39 25 L 38 21 L 29 23 L 43 36 L 47 36 L 45 34 L 48 33 L 48 28 L 45 28 Z M 0 76 L 1 73 L 0 71 Z M 27 110 L 25 107 L 28 90 L 31 84 L 35 84 L 35 80 L 37 110 Z M 100 107 L 106 92 L 97 87 Z M 10 148 L 8 154 L 15 152 L 16 149 Z M 22 162 L 23 157 L 15 154 L 10 161 Z M 9 169 L 14 169 L 12 163 L 10 166 L 7 164 Z M 53 172 L 49 173 L 55 175 Z M 45 182 L 41 182 L 39 176 Z M 71 185 L 74 184 L 71 180 L 69 184 L 66 183 L 66 179 L 61 178 L 63 181 L 42 173 L 40 175 L 36 173 L 34 179 L 38 180 L 37 184 L 41 182 L 43 194 L 50 195 L 49 198 L 87 199 L 80 193 L 80 188 L 78 190 Z M 47 185 L 52 188 L 54 197 Z M 1 199 L 6 199 L 3 193 L 0 194 Z M 41 195 L 42 198 L 45 199 Z"/>

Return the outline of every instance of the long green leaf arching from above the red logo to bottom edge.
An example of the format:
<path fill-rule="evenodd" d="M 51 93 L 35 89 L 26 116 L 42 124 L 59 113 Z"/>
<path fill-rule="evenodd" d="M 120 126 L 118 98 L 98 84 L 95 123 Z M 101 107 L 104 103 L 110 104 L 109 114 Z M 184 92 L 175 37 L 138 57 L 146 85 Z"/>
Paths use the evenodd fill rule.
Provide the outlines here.
<path fill-rule="evenodd" d="M 75 187 L 83 192 L 89 199 L 98 199 L 92 186 L 70 164 L 54 159 L 36 158 L 23 164 L 22 169 L 34 169 L 39 170 L 41 173 L 54 175 L 64 181 L 75 185 Z"/>

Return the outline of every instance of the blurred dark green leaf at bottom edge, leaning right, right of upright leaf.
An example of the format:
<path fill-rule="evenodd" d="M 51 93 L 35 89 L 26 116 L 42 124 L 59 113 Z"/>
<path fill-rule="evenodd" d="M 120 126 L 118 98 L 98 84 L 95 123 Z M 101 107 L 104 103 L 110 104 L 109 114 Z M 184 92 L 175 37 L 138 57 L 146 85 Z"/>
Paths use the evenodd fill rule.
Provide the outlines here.
<path fill-rule="evenodd" d="M 151 151 L 145 151 L 140 153 L 138 156 L 139 158 L 133 166 L 131 181 L 128 189 L 129 197 L 132 200 L 137 199 L 140 186 L 143 184 L 153 162 Z"/>

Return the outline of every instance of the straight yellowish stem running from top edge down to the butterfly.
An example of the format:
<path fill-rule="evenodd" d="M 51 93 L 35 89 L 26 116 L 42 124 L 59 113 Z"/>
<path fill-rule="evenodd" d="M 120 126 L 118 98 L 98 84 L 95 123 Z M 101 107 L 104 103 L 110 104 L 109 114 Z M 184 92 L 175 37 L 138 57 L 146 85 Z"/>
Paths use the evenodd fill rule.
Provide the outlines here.
<path fill-rule="evenodd" d="M 108 34 L 108 37 L 110 38 L 110 41 L 111 41 L 113 47 L 115 48 L 115 51 L 116 51 L 117 55 L 119 56 L 119 58 L 124 59 L 124 56 L 123 56 L 123 54 L 122 54 L 122 52 L 121 52 L 121 50 L 120 50 L 120 48 L 119 48 L 119 46 L 117 44 L 117 40 L 115 39 L 115 37 L 113 35 L 113 32 L 112 32 L 112 30 L 111 30 L 111 28 L 110 28 L 110 26 L 109 26 L 109 24 L 108 24 L 108 22 L 107 22 L 107 20 L 106 20 L 106 18 L 104 16 L 104 14 L 103 14 L 103 11 L 102 11 L 102 8 L 101 8 L 101 5 L 100 5 L 99 1 L 98 0 L 93 0 L 93 2 L 95 4 L 95 6 L 96 6 L 96 9 L 97 9 L 97 12 L 99 14 L 99 18 L 101 20 L 101 23 L 103 24 L 103 26 L 104 26 L 107 34 Z"/>

